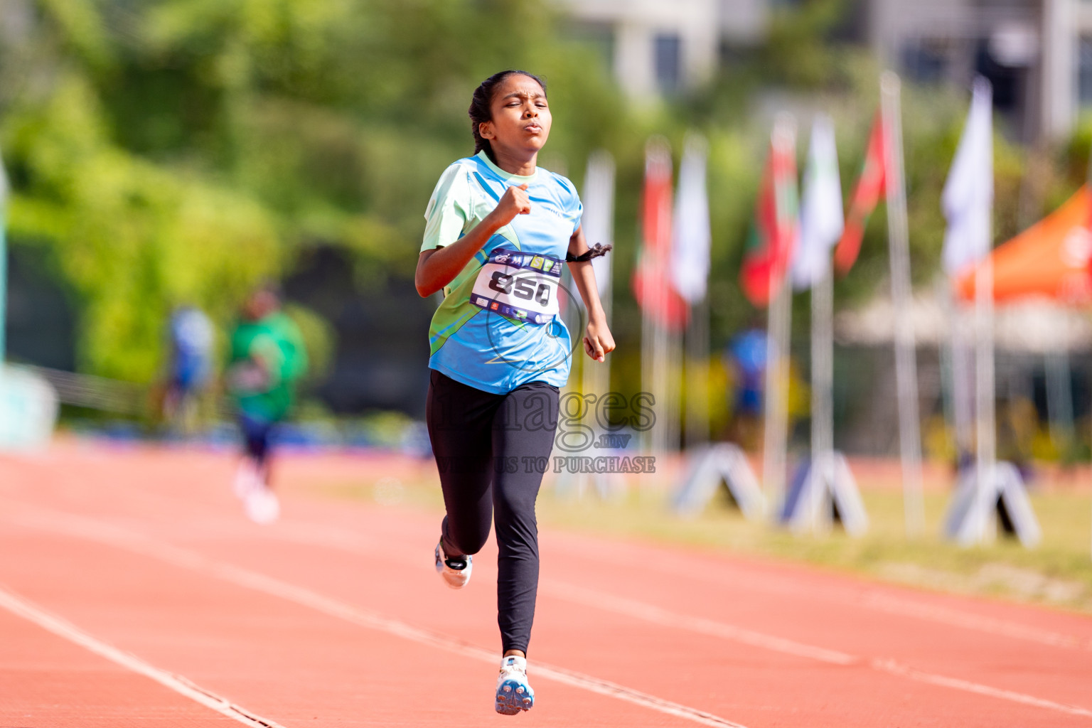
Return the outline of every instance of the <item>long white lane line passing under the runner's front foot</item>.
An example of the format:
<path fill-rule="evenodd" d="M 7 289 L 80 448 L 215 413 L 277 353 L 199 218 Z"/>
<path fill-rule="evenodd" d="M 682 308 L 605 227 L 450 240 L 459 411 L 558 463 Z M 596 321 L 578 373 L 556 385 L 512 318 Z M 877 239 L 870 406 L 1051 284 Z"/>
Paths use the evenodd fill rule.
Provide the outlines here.
<path fill-rule="evenodd" d="M 88 540 L 132 551 L 141 556 L 150 557 L 170 563 L 182 569 L 188 569 L 205 575 L 215 576 L 236 586 L 246 587 L 256 592 L 261 592 L 271 596 L 293 601 L 295 604 L 309 607 L 322 613 L 345 620 L 353 624 L 365 626 L 378 632 L 402 637 L 418 644 L 439 647 L 451 653 L 463 655 L 478 660 L 484 660 L 490 665 L 497 664 L 497 655 L 483 647 L 466 644 L 452 637 L 429 632 L 412 626 L 405 622 L 390 619 L 375 612 L 366 611 L 343 601 L 318 594 L 310 589 L 283 582 L 272 576 L 235 566 L 228 563 L 213 561 L 197 551 L 181 549 L 159 541 L 145 538 L 136 533 L 107 524 L 104 522 L 72 516 L 60 512 L 46 512 L 44 509 L 35 508 L 40 516 L 13 516 L 5 514 L 4 517 L 11 522 L 32 526 L 46 530 L 59 532 L 70 536 L 78 536 Z M 627 688 L 609 680 L 601 680 L 593 676 L 583 675 L 573 670 L 545 665 L 535 661 L 533 673 L 538 677 L 560 682 L 586 690 L 600 695 L 615 697 L 633 705 L 650 708 L 658 713 L 676 716 L 714 728 L 746 728 L 741 724 L 734 723 L 727 718 L 722 718 L 712 713 L 700 711 L 688 705 L 674 703 L 655 695 L 643 693 L 632 688 Z M 273 724 L 270 724 L 273 725 Z"/>

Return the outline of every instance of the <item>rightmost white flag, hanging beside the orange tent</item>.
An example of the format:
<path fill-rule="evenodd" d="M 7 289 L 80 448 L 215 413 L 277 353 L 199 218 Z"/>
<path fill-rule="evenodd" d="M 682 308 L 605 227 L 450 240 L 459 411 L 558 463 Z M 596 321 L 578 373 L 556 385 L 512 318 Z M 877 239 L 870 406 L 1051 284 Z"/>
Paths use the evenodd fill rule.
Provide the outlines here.
<path fill-rule="evenodd" d="M 971 111 L 963 127 L 948 181 L 940 195 L 948 229 L 941 261 L 948 275 L 958 275 L 981 261 L 990 249 L 994 205 L 993 91 L 974 80 Z"/>

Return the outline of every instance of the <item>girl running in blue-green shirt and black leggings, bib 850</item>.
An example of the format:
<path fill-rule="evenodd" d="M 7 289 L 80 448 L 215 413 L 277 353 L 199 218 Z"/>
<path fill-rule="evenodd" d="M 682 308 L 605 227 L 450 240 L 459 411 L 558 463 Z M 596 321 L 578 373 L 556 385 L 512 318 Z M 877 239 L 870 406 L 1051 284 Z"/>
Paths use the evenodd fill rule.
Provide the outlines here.
<path fill-rule="evenodd" d="M 526 652 L 538 587 L 535 499 L 557 428 L 572 346 L 558 307 L 561 262 L 587 310 L 583 345 L 615 347 L 589 262 L 572 182 L 537 166 L 549 136 L 546 84 L 525 71 L 489 76 L 470 108 L 475 155 L 448 167 L 425 211 L 422 296 L 444 291 L 429 327 L 428 433 L 447 515 L 436 570 L 452 588 L 496 523 L 498 713 L 534 705 Z"/>

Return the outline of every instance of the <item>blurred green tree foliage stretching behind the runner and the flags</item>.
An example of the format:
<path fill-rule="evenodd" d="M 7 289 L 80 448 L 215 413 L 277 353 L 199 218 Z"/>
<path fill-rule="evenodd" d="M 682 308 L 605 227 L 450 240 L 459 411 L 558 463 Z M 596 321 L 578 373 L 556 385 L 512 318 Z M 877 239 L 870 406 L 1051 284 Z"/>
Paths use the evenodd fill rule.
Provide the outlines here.
<path fill-rule="evenodd" d="M 712 83 L 634 107 L 546 0 L 7 0 L 0 148 L 14 188 L 12 242 L 48 250 L 76 297 L 81 367 L 147 381 L 174 306 L 195 303 L 227 324 L 249 288 L 290 272 L 308 247 L 349 251 L 355 279 L 372 290 L 411 276 L 432 186 L 472 151 L 474 86 L 526 68 L 549 82 L 547 166 L 580 184 L 592 150 L 615 155 L 615 333 L 624 344 L 615 371 L 636 375 L 640 321 L 626 284 L 648 136 L 666 135 L 677 152 L 688 129 L 710 140 L 720 344 L 756 314 L 737 278 L 773 112 L 796 114 L 802 166 L 812 111 L 832 114 L 847 198 L 860 169 L 880 69 L 836 40 L 846 4 L 779 10 L 764 43 L 729 49 Z M 939 259 L 940 190 L 966 100 L 905 88 L 919 284 Z M 1085 158 L 1087 135 L 1075 144 L 1069 158 Z M 1018 204 L 1024 167 L 999 134 L 998 239 L 1030 222 L 1016 211 L 1043 212 L 1065 196 L 1051 177 L 1035 205 Z M 881 206 L 858 265 L 839 283 L 840 305 L 882 284 L 885 224 Z M 312 323 L 316 341 L 329 335 Z"/>

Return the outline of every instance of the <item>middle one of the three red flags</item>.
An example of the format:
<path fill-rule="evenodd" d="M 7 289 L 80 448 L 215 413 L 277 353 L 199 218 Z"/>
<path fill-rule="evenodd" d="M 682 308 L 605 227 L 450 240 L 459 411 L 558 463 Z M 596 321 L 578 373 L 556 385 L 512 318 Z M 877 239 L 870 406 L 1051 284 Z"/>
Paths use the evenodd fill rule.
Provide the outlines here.
<path fill-rule="evenodd" d="M 784 281 L 796 244 L 796 138 L 774 127 L 762 182 L 739 271 L 739 284 L 755 306 L 767 306 Z"/>

